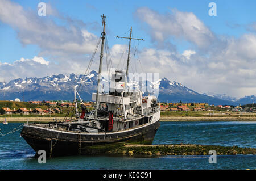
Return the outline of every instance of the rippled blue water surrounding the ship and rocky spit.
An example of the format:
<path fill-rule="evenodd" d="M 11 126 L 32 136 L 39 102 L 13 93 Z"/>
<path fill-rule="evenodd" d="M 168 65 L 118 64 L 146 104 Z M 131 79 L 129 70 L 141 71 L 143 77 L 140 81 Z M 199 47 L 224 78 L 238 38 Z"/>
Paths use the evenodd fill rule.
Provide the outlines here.
<path fill-rule="evenodd" d="M 0 125 L 2 133 L 22 123 Z M 256 169 L 256 155 L 130 157 L 73 156 L 48 158 L 39 164 L 19 132 L 0 136 L 0 169 Z M 255 122 L 161 122 L 153 144 L 201 144 L 256 148 Z"/>

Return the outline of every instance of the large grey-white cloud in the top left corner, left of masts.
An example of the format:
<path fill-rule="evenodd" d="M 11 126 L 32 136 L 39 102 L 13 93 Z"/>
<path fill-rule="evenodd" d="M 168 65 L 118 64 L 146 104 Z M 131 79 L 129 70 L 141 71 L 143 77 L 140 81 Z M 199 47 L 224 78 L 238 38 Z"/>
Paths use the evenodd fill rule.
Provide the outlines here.
<path fill-rule="evenodd" d="M 18 3 L 2 0 L 0 1 L 0 20 L 17 31 L 22 44 L 36 44 L 44 53 L 92 53 L 98 37 L 85 29 L 85 23 L 64 18 L 50 4 L 46 6 L 47 16 L 38 16 L 36 11 L 24 10 Z M 67 23 L 67 26 L 56 24 L 52 18 L 53 15 L 55 15 L 54 18 Z"/>

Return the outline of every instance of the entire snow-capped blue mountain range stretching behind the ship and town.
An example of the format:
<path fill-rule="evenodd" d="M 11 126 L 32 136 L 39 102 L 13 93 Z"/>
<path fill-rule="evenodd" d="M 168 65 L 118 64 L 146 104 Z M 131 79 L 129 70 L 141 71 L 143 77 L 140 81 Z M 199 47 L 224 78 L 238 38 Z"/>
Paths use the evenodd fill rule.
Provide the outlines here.
<path fill-rule="evenodd" d="M 73 100 L 73 87 L 83 86 L 79 93 L 82 99 L 91 100 L 92 92 L 96 92 L 98 73 L 91 71 L 88 75 L 51 75 L 43 78 L 14 79 L 9 83 L 0 82 L 0 100 Z M 102 81 L 108 82 L 104 78 Z M 145 83 L 145 82 L 144 82 Z M 142 84 L 144 84 L 142 83 Z M 236 99 L 225 94 L 199 94 L 178 82 L 167 78 L 156 82 L 146 82 L 147 85 L 159 88 L 158 99 L 161 102 L 203 102 L 209 104 L 249 104 L 256 102 L 256 95 Z"/>

